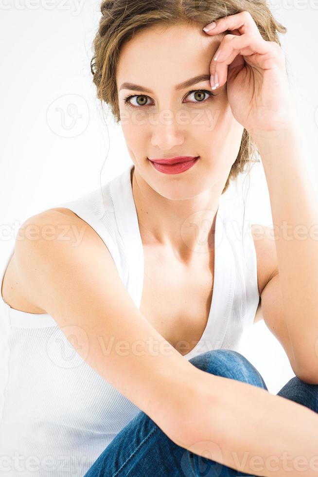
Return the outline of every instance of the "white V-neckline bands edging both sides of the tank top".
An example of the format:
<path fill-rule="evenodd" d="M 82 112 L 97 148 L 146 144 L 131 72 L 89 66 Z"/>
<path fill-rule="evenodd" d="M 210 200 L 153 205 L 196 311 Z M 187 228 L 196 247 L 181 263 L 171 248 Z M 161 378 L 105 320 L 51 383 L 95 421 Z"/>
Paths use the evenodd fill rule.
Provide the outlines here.
<path fill-rule="evenodd" d="M 112 181 L 110 192 L 118 231 L 124 244 L 127 263 L 126 287 L 135 305 L 140 309 L 144 279 L 144 253 L 132 192 L 131 171 L 133 167 L 134 165 L 130 165 Z M 183 355 L 186 359 L 191 359 L 205 351 L 220 348 L 226 334 L 234 295 L 234 257 L 226 229 L 226 214 L 221 197 L 215 220 L 214 277 L 209 316 L 201 338 L 191 351 Z"/>

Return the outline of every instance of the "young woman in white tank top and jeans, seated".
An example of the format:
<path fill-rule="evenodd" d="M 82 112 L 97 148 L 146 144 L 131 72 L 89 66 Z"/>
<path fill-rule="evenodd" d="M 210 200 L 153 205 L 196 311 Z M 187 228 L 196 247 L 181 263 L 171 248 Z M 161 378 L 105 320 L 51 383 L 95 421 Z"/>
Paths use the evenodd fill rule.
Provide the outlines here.
<path fill-rule="evenodd" d="M 19 230 L 1 279 L 2 470 L 316 475 L 318 210 L 285 29 L 263 0 L 101 11 L 94 82 L 133 165 Z M 241 241 L 222 201 L 255 146 L 275 241 L 251 226 Z M 295 372 L 278 395 L 237 351 L 257 310 Z"/>

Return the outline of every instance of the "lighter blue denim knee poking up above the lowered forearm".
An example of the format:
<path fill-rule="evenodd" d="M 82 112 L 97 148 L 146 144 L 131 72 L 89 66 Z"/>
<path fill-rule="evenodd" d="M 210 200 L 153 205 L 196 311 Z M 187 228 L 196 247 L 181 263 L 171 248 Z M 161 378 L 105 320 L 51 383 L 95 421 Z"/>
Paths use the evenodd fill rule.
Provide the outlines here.
<path fill-rule="evenodd" d="M 189 360 L 195 367 L 216 376 L 235 379 L 267 389 L 262 375 L 243 354 L 232 349 L 213 349 Z"/>

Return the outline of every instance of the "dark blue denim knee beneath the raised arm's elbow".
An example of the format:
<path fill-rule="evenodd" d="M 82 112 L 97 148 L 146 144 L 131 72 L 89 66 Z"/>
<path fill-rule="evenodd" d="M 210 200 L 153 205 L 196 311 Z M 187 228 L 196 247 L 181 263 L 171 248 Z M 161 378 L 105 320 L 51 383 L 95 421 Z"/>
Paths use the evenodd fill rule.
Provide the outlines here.
<path fill-rule="evenodd" d="M 318 412 L 318 385 L 304 383 L 297 376 L 291 378 L 277 395 Z"/>

